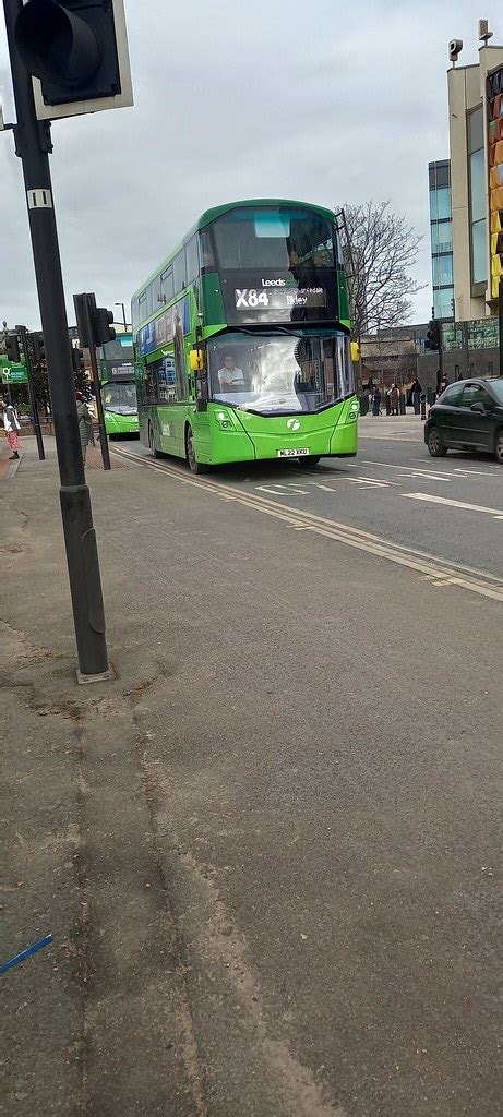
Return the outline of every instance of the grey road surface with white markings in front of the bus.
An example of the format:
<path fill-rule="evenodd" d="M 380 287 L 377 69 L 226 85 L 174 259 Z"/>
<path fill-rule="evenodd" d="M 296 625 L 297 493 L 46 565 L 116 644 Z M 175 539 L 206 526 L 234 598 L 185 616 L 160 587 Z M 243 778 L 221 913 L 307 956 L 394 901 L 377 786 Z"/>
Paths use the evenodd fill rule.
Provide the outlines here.
<path fill-rule="evenodd" d="M 149 457 L 140 442 L 117 448 Z M 179 459 L 163 462 L 184 468 Z M 325 458 L 311 470 L 283 461 L 231 466 L 209 478 L 503 577 L 502 467 L 488 455 L 433 459 L 412 416 L 360 420 L 354 459 Z"/>

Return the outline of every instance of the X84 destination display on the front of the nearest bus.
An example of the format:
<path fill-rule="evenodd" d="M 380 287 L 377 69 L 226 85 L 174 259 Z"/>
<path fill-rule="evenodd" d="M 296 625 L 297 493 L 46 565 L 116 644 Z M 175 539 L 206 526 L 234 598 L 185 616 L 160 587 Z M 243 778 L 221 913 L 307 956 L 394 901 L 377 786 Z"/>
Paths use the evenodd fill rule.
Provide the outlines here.
<path fill-rule="evenodd" d="M 334 269 L 311 269 L 309 275 L 221 274 L 227 322 L 336 321 Z"/>

